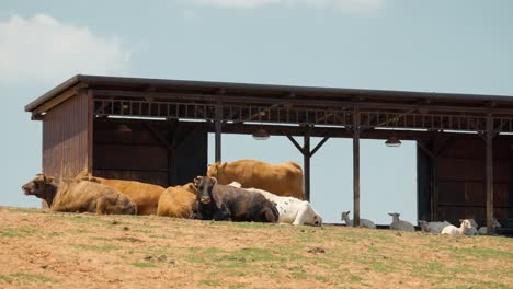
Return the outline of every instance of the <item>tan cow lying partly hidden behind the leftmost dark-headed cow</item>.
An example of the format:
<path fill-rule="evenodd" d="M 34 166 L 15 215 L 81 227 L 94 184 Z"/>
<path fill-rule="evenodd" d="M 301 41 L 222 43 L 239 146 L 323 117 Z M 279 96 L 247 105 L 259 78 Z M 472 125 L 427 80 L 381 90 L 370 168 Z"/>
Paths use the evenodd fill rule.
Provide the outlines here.
<path fill-rule="evenodd" d="M 137 215 L 156 215 L 160 195 L 166 190 L 161 186 L 136 181 L 109 180 L 96 176 L 89 177 L 89 180 L 113 187 L 130 197 L 137 205 Z"/>

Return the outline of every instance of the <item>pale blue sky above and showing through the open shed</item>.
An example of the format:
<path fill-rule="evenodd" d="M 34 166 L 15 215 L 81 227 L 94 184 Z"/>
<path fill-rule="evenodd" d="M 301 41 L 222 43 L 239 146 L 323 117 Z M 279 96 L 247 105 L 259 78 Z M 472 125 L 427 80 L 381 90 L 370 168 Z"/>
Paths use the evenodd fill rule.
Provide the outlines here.
<path fill-rule="evenodd" d="M 41 123 L 23 106 L 76 73 L 513 95 L 513 2 L 176 0 L 0 2 L 0 205 L 38 206 Z M 318 140 L 316 140 L 318 141 Z M 224 159 L 301 155 L 287 139 L 226 136 Z M 352 142 L 312 159 L 312 203 L 352 209 Z M 362 141 L 362 216 L 415 220 L 415 146 Z"/>

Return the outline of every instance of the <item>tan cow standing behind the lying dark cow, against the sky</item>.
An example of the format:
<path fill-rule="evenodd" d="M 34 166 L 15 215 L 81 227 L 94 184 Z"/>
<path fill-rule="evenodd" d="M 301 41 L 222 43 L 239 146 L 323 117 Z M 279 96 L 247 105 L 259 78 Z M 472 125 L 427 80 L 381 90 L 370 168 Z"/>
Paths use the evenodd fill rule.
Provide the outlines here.
<path fill-rule="evenodd" d="M 242 187 L 255 187 L 278 196 L 304 199 L 303 171 L 295 162 L 281 164 L 254 160 L 239 160 L 231 163 L 214 163 L 207 176 L 217 178 L 218 184 L 238 182 Z"/>

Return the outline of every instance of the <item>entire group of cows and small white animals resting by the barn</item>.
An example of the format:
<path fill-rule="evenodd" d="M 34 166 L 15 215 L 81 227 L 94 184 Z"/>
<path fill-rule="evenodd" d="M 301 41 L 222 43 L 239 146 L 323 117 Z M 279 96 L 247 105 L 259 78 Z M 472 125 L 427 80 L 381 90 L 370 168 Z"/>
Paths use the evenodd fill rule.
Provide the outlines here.
<path fill-rule="evenodd" d="M 202 220 L 278 222 L 322 226 L 321 216 L 304 199 L 303 171 L 294 162 L 270 164 L 254 160 L 209 165 L 206 176 L 167 189 L 135 181 L 79 176 L 54 180 L 44 174 L 22 186 L 25 195 L 44 199 L 55 211 L 158 215 Z M 414 226 L 392 217 L 391 230 L 414 231 Z M 350 211 L 341 218 L 352 227 Z M 441 234 L 486 234 L 472 219 L 448 222 L 419 221 L 422 231 Z M 376 229 L 367 219 L 360 227 Z M 495 227 L 500 227 L 495 220 Z"/>

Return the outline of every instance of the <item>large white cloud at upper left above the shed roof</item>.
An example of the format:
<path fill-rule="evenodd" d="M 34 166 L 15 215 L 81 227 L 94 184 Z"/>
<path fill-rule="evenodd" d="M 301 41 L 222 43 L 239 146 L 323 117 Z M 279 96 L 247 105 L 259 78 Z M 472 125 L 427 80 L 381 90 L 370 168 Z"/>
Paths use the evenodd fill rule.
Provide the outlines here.
<path fill-rule="evenodd" d="M 87 27 L 45 14 L 0 22 L 0 84 L 62 81 L 77 73 L 125 71 L 130 51 L 116 37 L 93 35 Z"/>

